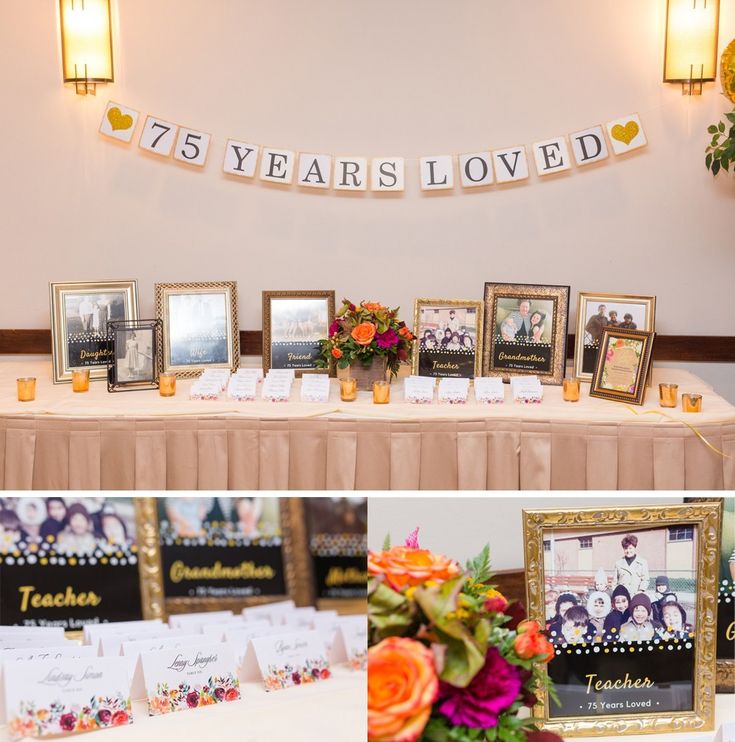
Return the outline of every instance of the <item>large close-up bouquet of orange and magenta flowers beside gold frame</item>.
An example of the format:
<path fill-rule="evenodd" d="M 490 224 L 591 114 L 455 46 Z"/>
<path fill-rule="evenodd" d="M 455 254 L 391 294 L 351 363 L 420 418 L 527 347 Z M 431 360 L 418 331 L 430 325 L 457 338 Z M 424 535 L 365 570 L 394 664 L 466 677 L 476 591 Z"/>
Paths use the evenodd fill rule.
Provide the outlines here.
<path fill-rule="evenodd" d="M 368 553 L 370 742 L 561 742 L 519 713 L 547 687 L 554 650 L 489 584 L 488 547 L 463 570 L 417 531 Z"/>

